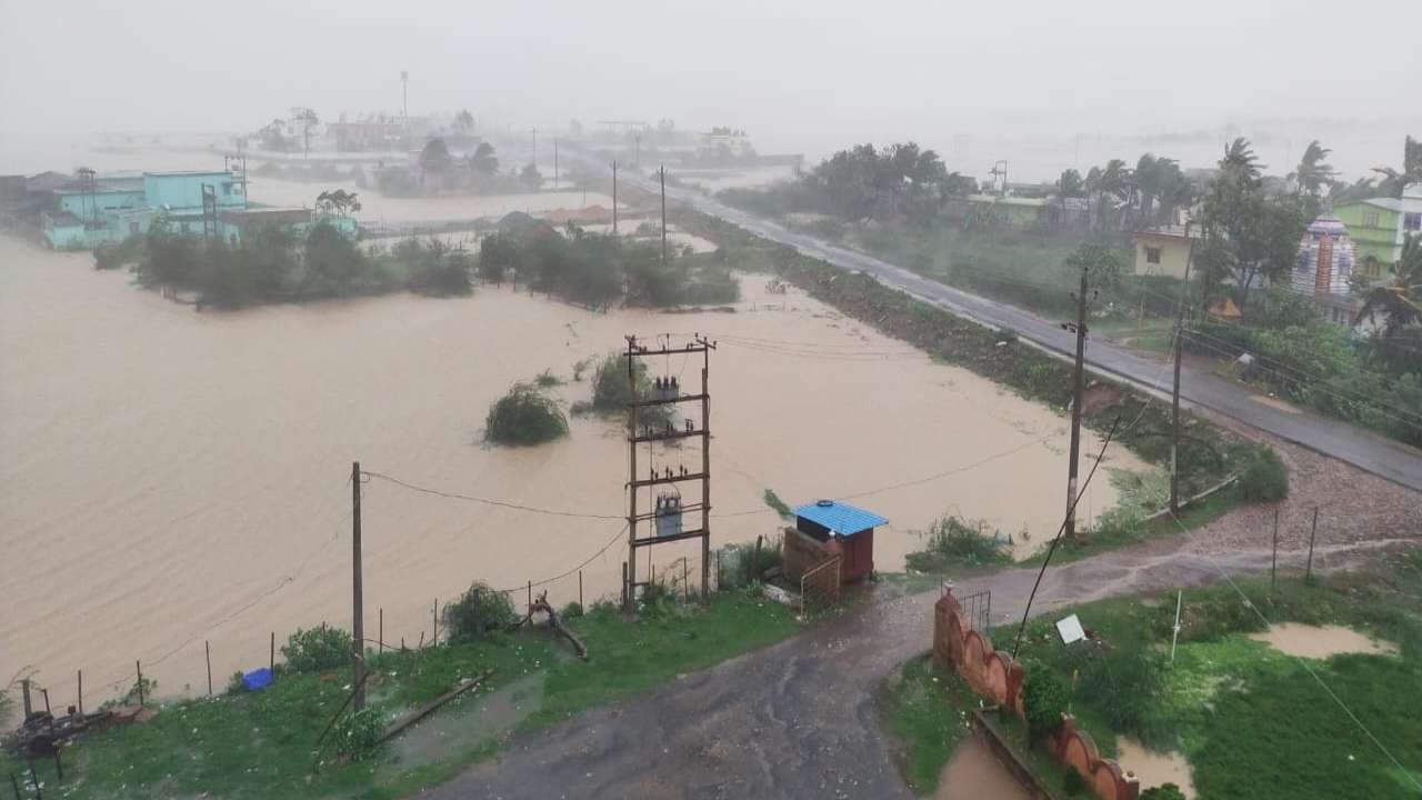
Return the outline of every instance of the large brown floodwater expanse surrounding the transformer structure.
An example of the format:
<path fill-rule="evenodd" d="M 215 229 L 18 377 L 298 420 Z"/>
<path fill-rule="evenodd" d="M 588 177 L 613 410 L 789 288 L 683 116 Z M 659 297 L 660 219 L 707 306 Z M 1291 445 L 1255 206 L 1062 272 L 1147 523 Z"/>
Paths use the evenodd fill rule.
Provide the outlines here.
<path fill-rule="evenodd" d="M 0 238 L 0 678 L 34 666 L 63 707 L 82 669 L 97 706 L 142 659 L 161 695 L 201 692 L 203 641 L 220 688 L 266 663 L 273 632 L 280 643 L 297 626 L 348 626 L 356 460 L 438 491 L 609 517 L 370 478 L 368 636 L 383 615 L 387 642 L 415 643 L 432 604 L 475 579 L 518 588 L 522 609 L 526 581 L 563 575 L 543 586 L 549 599 L 576 599 L 582 565 L 587 602 L 614 595 L 626 558 L 620 424 L 573 419 L 570 437 L 533 448 L 479 440 L 489 404 L 546 369 L 567 380 L 563 401 L 589 399 L 573 364 L 627 333 L 720 342 L 717 547 L 779 528 L 766 488 L 889 517 L 875 542 L 882 571 L 902 568 L 913 531 L 948 511 L 1038 538 L 1057 530 L 1065 419 L 793 290 L 768 298 L 764 276 L 741 283 L 738 313 L 594 315 L 509 288 L 196 313 L 124 272 L 95 272 L 87 253 Z M 691 357 L 651 367 L 688 389 L 700 380 Z M 1085 437 L 1084 460 L 1098 447 Z M 1123 450 L 1109 458 L 1140 468 Z M 654 463 L 695 471 L 700 453 Z M 647 470 L 646 451 L 638 464 Z M 687 491 L 694 501 L 698 488 Z M 1105 480 L 1088 497 L 1095 511 L 1115 502 Z M 641 558 L 680 578 L 675 559 L 697 555 L 683 544 Z"/>

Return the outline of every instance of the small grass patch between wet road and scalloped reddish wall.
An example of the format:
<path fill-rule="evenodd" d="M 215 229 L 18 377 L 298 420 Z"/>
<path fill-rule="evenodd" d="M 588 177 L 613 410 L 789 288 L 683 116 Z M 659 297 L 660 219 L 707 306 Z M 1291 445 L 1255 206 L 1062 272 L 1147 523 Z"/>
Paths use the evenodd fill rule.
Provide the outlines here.
<path fill-rule="evenodd" d="M 931 794 L 953 750 L 971 732 L 968 712 L 977 695 L 957 675 L 933 665 L 927 653 L 903 665 L 886 689 L 882 719 L 902 744 L 899 767 L 917 794 Z"/>

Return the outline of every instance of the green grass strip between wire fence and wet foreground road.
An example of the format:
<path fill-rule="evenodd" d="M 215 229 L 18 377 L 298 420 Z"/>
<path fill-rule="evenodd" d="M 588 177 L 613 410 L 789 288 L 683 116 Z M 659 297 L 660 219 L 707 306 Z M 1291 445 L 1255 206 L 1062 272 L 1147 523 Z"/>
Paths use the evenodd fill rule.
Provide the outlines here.
<path fill-rule="evenodd" d="M 570 621 L 592 653 L 572 658 L 546 631 L 523 631 L 493 642 L 447 645 L 411 653 L 375 656 L 378 675 L 368 692 L 371 707 L 388 720 L 455 686 L 495 669 L 486 688 L 451 703 L 431 720 L 472 726 L 474 733 L 435 742 L 431 757 L 407 757 L 385 747 L 367 762 L 338 763 L 314 742 L 346 698 L 348 670 L 333 679 L 317 673 L 283 675 L 270 689 L 164 707 L 149 723 L 81 737 L 64 753 L 63 783 L 53 763 L 37 763 L 47 797 L 158 799 L 218 796 L 236 799 L 361 797 L 414 794 L 496 753 L 506 737 L 567 719 L 587 707 L 646 692 L 677 673 L 704 669 L 727 658 L 784 639 L 799 629 L 785 606 L 744 592 L 722 592 L 701 611 L 663 609 L 624 622 L 610 609 Z M 481 719 L 482 698 L 513 692 L 518 715 L 491 723 Z M 23 769 L 0 754 L 0 776 Z"/>

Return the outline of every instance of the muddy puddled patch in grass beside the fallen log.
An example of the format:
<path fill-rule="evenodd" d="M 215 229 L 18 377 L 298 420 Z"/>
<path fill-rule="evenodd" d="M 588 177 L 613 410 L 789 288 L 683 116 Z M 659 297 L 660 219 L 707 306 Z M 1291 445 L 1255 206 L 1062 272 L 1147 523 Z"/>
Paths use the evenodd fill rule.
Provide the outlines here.
<path fill-rule="evenodd" d="M 456 757 L 481 742 L 510 730 L 543 700 L 543 676 L 530 675 L 479 695 L 475 689 L 395 739 L 395 754 L 407 767 Z"/>

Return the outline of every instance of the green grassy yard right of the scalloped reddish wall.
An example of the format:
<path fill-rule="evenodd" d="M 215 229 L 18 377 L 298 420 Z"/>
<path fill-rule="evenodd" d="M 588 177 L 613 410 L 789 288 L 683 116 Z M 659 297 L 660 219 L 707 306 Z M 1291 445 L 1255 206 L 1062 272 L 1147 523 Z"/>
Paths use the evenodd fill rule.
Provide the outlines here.
<path fill-rule="evenodd" d="M 1367 572 L 1305 582 L 1281 575 L 1234 581 L 1274 622 L 1347 625 L 1398 645 L 1399 655 L 1337 655 L 1301 662 L 1249 638 L 1264 623 L 1230 585 L 1185 591 L 1183 629 L 1167 663 L 1175 592 L 1062 609 L 1028 623 L 1028 669 L 1071 679 L 1078 723 L 1109 753 L 1118 735 L 1179 749 L 1202 797 L 1416 797 L 1416 787 L 1314 679 L 1315 673 L 1422 780 L 1422 551 L 1389 555 Z M 1052 621 L 1075 612 L 1099 643 L 1062 645 Z M 1015 626 L 994 631 L 1010 646 Z M 1112 693 L 1119 675 L 1095 670 L 1112 653 L 1146 653 L 1159 686 Z M 1129 695 L 1129 696 L 1128 696 Z M 1136 713 L 1139 730 L 1112 725 L 1109 705 Z M 1119 707 L 1118 707 L 1119 712 Z M 1045 780 L 1045 779 L 1044 779 Z"/>

